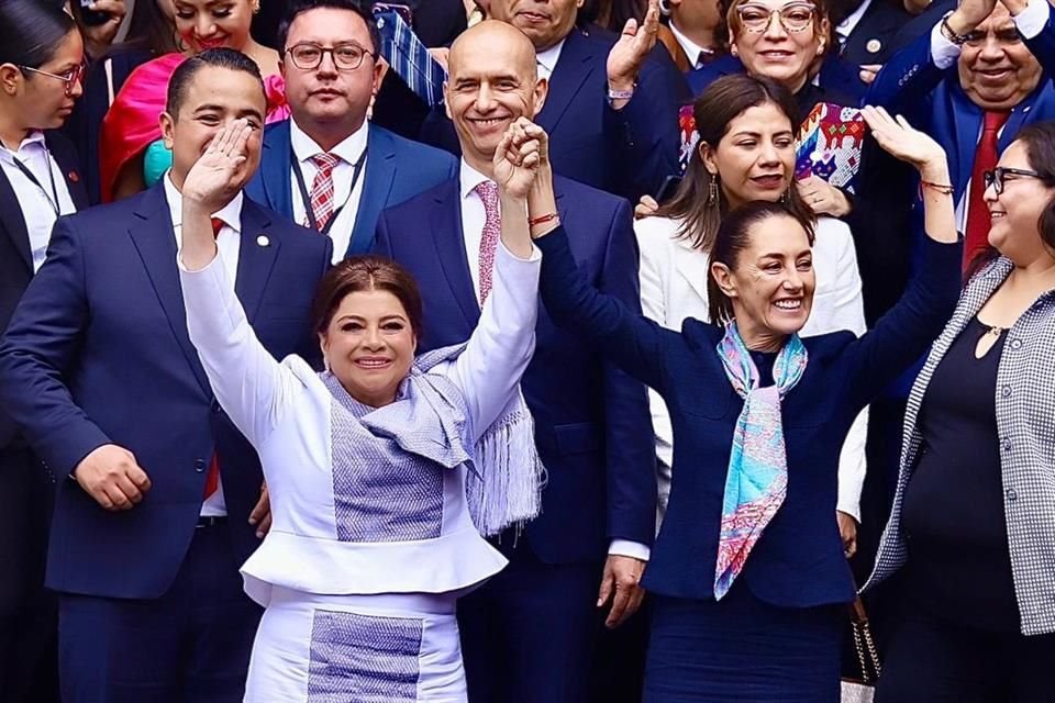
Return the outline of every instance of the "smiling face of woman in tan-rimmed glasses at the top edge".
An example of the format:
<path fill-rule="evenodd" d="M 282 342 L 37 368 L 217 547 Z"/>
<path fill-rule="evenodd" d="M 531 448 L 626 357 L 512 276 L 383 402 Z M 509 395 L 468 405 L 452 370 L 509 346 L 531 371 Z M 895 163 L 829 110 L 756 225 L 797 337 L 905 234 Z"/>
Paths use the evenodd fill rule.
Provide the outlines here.
<path fill-rule="evenodd" d="M 809 80 L 818 57 L 824 54 L 828 19 L 819 18 L 814 10 L 806 29 L 789 32 L 776 15 L 769 14 L 765 31 L 749 32 L 736 12 L 743 8 L 745 12 L 762 16 L 786 5 L 786 11 L 792 11 L 804 3 L 788 0 L 742 0 L 736 3 L 730 13 L 729 43 L 748 72 L 771 78 L 791 92 L 798 92 Z"/>

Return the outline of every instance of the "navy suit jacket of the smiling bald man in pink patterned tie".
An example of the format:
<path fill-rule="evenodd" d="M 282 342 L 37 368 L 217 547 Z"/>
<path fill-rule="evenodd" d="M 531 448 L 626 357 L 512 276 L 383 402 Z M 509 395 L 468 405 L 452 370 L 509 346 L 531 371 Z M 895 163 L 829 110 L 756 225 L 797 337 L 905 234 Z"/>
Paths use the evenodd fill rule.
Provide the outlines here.
<path fill-rule="evenodd" d="M 575 233 L 575 256 L 590 280 L 641 310 L 630 204 L 564 178 L 557 209 Z M 423 227 L 422 223 L 429 223 Z M 462 235 L 457 179 L 386 210 L 377 252 L 406 266 L 424 298 L 419 350 L 465 342 L 480 308 Z M 602 559 L 609 539 L 651 545 L 655 533 L 655 448 L 645 388 L 591 345 L 538 311 L 534 358 L 523 391 L 548 483 L 526 538 L 547 563 Z"/>

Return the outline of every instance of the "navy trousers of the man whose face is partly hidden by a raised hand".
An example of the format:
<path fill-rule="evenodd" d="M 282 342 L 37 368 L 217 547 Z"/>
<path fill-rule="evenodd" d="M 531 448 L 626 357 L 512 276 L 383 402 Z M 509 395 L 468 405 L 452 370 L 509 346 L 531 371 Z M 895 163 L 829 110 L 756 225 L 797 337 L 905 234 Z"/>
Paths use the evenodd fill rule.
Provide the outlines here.
<path fill-rule="evenodd" d="M 63 703 L 241 702 L 262 611 L 238 566 L 226 525 L 199 527 L 162 598 L 62 594 Z"/>

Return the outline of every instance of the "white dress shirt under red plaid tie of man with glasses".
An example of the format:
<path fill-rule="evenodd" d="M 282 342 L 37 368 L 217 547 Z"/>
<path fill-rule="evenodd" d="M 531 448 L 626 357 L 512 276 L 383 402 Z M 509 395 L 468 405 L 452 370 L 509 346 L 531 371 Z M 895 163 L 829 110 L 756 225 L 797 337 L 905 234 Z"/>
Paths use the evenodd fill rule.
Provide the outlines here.
<path fill-rule="evenodd" d="M 359 211 L 359 200 L 363 198 L 363 182 L 366 180 L 366 159 L 368 157 L 364 153 L 366 152 L 368 133 L 368 123 L 364 120 L 363 126 L 330 149 L 330 154 L 341 157 L 337 165 L 333 167 L 333 209 L 336 210 L 344 203 L 341 212 L 337 213 L 336 219 L 330 226 L 334 264 L 344 259 L 344 255 L 348 250 L 348 243 L 352 242 L 352 228 L 355 227 L 355 216 Z M 297 126 L 297 121 L 292 118 L 289 119 L 289 141 L 293 147 L 293 157 L 300 164 L 300 172 L 303 174 L 304 188 L 311 194 L 311 185 L 315 180 L 315 174 L 319 172 L 319 167 L 315 166 L 311 157 L 321 154 L 323 149 Z M 355 164 L 359 158 L 363 158 L 363 166 L 353 189 L 352 177 L 355 175 Z M 297 174 L 292 172 L 292 167 L 290 167 L 289 177 L 293 191 L 293 221 L 310 227 L 311 221 L 308 219 L 304 199 L 300 194 L 300 188 L 297 186 Z"/>

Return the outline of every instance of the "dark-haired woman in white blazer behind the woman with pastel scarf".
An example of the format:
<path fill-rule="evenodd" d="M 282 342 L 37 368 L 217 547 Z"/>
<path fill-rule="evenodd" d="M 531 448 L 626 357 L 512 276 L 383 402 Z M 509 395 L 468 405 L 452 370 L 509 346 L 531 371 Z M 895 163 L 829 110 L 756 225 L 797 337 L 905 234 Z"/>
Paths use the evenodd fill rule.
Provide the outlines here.
<path fill-rule="evenodd" d="M 754 99 L 745 101 L 738 96 Z M 737 111 L 745 103 L 749 107 Z M 834 217 L 814 219 L 791 187 L 795 111 L 795 98 L 785 88 L 745 75 L 723 77 L 697 99 L 697 158 L 690 161 L 670 202 L 634 225 L 641 249 L 641 306 L 647 317 L 671 330 L 680 330 L 686 317 L 710 320 L 708 252 L 722 214 L 752 200 L 782 200 L 815 222 L 817 293 L 802 335 L 865 332 L 860 275 L 849 227 Z M 670 492 L 673 432 L 663 399 L 649 391 L 649 403 L 659 458 L 658 531 Z M 837 518 L 847 556 L 856 548 L 860 518 L 866 414 L 867 410 L 854 423 L 840 459 Z"/>

